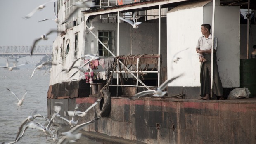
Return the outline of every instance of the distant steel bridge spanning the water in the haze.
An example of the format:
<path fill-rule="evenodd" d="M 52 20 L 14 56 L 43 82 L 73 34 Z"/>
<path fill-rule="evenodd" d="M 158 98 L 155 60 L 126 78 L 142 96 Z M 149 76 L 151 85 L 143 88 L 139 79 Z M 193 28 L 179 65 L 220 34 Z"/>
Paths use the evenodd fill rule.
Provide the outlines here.
<path fill-rule="evenodd" d="M 6 66 L 9 67 L 9 62 L 16 66 L 17 59 L 30 56 L 32 46 L 0 46 L 0 58 L 7 59 Z M 52 46 L 36 46 L 33 50 L 33 55 L 42 56 L 52 54 Z"/>

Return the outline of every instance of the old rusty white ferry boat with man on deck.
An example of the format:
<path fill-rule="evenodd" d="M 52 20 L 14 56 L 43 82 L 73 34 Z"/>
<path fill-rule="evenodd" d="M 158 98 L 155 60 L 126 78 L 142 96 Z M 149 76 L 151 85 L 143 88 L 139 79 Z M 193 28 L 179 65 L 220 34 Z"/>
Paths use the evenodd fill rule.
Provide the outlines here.
<path fill-rule="evenodd" d="M 91 7 L 76 7 L 77 2 Z M 255 1 L 250 5 L 256 9 Z M 53 43 L 52 61 L 59 65 L 51 68 L 48 116 L 56 102 L 62 102 L 63 116 L 77 104 L 77 110 L 85 111 L 100 100 L 86 116 L 76 116 L 78 124 L 101 116 L 83 128 L 83 135 L 122 144 L 256 143 L 255 74 L 247 85 L 249 99 L 198 100 L 195 51 L 201 24 L 211 24 L 219 40 L 225 99 L 248 84 L 241 77 L 247 66 L 240 65 L 255 65 L 248 57 L 253 50 L 246 46 L 255 45 L 256 25 L 240 24 L 240 10 L 248 6 L 248 0 L 57 0 L 62 32 Z M 81 57 L 88 54 L 99 59 Z M 84 72 L 79 71 L 87 62 Z M 168 84 L 165 97 L 129 99 L 181 73 Z"/>

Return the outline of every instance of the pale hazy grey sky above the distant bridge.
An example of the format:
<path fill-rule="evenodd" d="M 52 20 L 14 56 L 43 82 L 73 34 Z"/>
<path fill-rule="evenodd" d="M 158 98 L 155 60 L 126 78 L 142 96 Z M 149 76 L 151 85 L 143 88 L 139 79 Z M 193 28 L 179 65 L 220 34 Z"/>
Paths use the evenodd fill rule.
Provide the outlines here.
<path fill-rule="evenodd" d="M 36 38 L 40 38 L 50 29 L 57 29 L 57 24 L 52 20 L 38 22 L 43 19 L 55 19 L 52 2 L 31 18 L 22 18 L 48 1 L 50 0 L 0 0 L 0 46 L 30 46 Z M 57 33 L 52 33 L 48 41 L 41 40 L 37 45 L 52 45 L 56 37 Z M 31 58 L 28 57 L 26 60 L 30 61 Z M 35 56 L 33 59 L 38 57 Z M 19 63 L 26 61 L 24 58 L 18 60 Z M 0 63 L 5 61 L 6 59 L 0 59 Z"/>

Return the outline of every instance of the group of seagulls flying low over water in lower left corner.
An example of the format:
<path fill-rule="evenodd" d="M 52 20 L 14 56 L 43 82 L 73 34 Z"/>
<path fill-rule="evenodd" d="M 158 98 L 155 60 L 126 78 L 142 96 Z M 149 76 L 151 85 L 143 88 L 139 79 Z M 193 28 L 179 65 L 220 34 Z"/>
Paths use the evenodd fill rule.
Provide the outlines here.
<path fill-rule="evenodd" d="M 7 88 L 7 90 L 9 90 Z M 18 98 L 18 96 L 16 94 L 14 94 L 14 92 L 12 92 L 11 90 L 9 90 L 15 97 L 17 97 L 18 99 L 18 108 L 23 104 L 23 100 L 24 97 L 26 96 L 27 92 L 25 92 L 25 94 L 22 96 L 21 99 Z M 31 129 L 37 129 L 41 132 L 43 132 L 46 135 L 46 139 L 47 136 L 50 135 L 50 137 L 52 137 L 53 141 L 56 142 L 56 144 L 66 144 L 67 142 L 71 143 L 71 142 L 76 142 L 81 138 L 81 133 L 79 133 L 79 131 L 85 127 L 86 125 L 89 125 L 91 123 L 94 123 L 96 120 L 98 120 L 100 117 L 95 118 L 94 120 L 88 121 L 86 123 L 82 123 L 80 125 L 78 124 L 78 120 L 75 121 L 75 116 L 78 115 L 80 117 L 84 117 L 86 116 L 87 112 L 92 109 L 93 107 L 95 107 L 97 105 L 97 103 L 99 102 L 99 100 L 97 100 L 94 104 L 92 104 L 90 107 L 88 107 L 84 112 L 81 111 L 77 111 L 79 104 L 76 105 L 74 111 L 67 111 L 69 116 L 72 116 L 71 120 L 68 120 L 66 115 L 65 117 L 61 116 L 59 114 L 60 110 L 61 110 L 61 106 L 57 105 L 57 103 L 61 103 L 61 102 L 56 102 L 56 105 L 53 108 L 53 115 L 51 119 L 46 118 L 45 116 L 41 115 L 40 113 L 36 113 L 36 110 L 34 110 L 31 113 L 31 116 L 28 116 L 27 118 L 25 118 L 18 127 L 18 132 L 16 135 L 16 138 L 14 141 L 9 142 L 9 143 L 5 143 L 3 142 L 2 144 L 14 144 L 16 142 L 18 142 L 19 140 L 22 139 L 22 137 L 24 136 L 25 131 L 28 128 Z M 61 103 L 62 104 L 62 103 Z M 36 113 L 36 114 L 35 114 Z M 64 111 L 64 114 L 66 114 L 66 112 Z M 63 120 L 65 120 L 71 127 L 68 127 L 65 123 L 55 123 L 55 118 L 59 117 Z M 43 120 L 47 121 L 47 126 L 43 126 L 41 123 L 35 122 L 36 118 L 42 118 Z M 60 125 L 59 128 L 57 130 L 55 130 L 55 126 L 56 125 Z M 62 133 L 59 133 L 60 130 L 69 130 L 69 131 L 64 131 Z"/>

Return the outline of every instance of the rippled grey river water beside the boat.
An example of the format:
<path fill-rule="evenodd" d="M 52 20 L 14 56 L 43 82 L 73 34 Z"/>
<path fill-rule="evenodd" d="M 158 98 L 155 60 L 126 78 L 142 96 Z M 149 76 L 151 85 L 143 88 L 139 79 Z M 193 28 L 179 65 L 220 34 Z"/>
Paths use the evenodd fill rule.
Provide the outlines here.
<path fill-rule="evenodd" d="M 19 124 L 33 110 L 47 117 L 47 91 L 50 80 L 50 70 L 36 70 L 33 78 L 29 80 L 33 69 L 20 68 L 20 70 L 8 71 L 0 68 L 0 143 L 13 142 L 15 140 Z M 19 99 L 27 91 L 23 106 L 17 110 L 17 98 L 9 92 L 9 88 Z M 47 125 L 47 121 L 36 118 L 35 122 Z M 24 136 L 16 144 L 55 144 L 48 135 L 40 130 L 28 129 Z M 72 144 L 102 144 L 87 137 L 82 137 Z"/>

